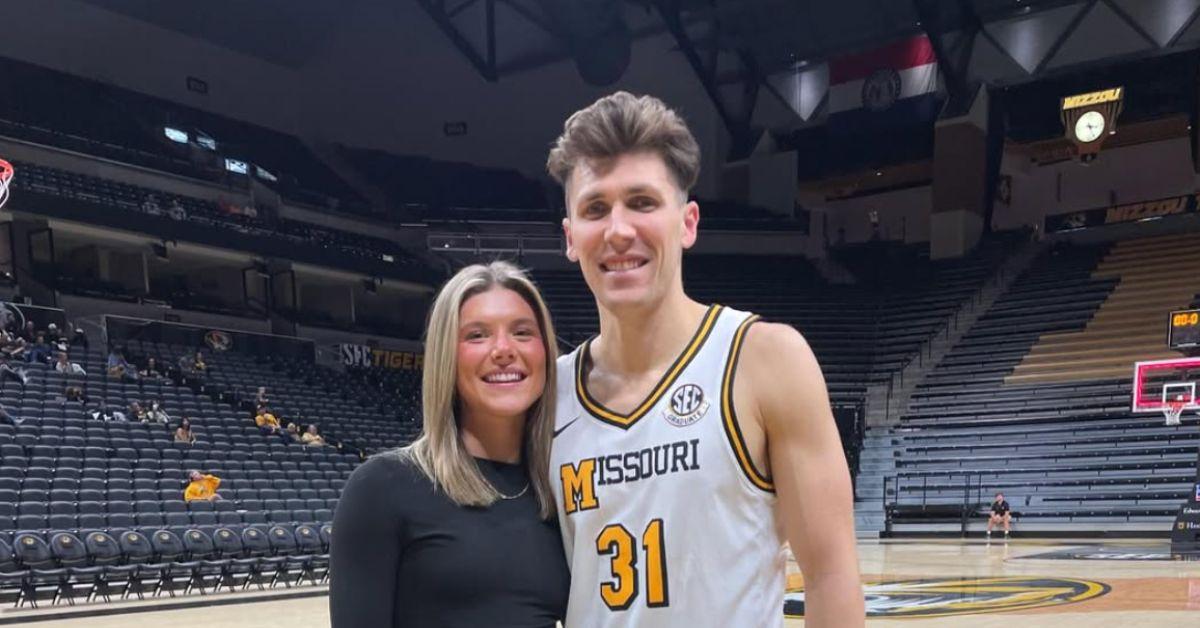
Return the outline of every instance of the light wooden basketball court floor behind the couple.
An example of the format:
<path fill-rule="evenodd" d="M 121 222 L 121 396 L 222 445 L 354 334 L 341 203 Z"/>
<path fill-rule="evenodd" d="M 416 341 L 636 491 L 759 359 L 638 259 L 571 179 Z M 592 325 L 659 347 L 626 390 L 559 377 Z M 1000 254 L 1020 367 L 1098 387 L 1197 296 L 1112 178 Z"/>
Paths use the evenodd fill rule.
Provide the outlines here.
<path fill-rule="evenodd" d="M 1159 540 L 863 542 L 859 555 L 872 628 L 1200 628 L 1200 561 L 1171 560 Z M 802 585 L 799 574 L 790 575 L 790 587 Z M 788 594 L 788 610 L 802 594 Z M 320 596 L 22 624 L 324 628 L 326 604 Z M 0 621 L 13 618 L 0 612 Z"/>

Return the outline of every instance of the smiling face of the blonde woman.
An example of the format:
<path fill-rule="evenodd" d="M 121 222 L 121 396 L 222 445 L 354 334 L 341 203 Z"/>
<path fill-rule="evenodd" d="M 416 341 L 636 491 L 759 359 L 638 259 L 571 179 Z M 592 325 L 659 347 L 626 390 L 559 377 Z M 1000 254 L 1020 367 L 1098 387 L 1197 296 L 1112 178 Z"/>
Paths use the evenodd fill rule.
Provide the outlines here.
<path fill-rule="evenodd" d="M 546 348 L 529 304 L 499 287 L 463 301 L 457 373 L 463 418 L 523 420 L 545 387 Z"/>

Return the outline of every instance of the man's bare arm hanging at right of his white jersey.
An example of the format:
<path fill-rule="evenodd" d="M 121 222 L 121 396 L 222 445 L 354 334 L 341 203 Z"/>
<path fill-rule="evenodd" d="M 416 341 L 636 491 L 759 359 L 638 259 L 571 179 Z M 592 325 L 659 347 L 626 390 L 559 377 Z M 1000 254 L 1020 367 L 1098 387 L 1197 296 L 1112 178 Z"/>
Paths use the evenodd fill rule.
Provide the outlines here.
<path fill-rule="evenodd" d="M 821 366 L 788 325 L 752 325 L 743 351 L 751 417 L 766 437 L 784 533 L 804 574 L 805 626 L 863 626 L 853 490 Z"/>

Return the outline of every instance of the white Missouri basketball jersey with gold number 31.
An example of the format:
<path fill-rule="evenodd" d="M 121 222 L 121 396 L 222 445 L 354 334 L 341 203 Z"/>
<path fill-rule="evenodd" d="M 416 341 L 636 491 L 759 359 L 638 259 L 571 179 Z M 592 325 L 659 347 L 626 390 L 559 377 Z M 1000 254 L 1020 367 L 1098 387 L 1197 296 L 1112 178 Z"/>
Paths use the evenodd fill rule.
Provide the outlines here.
<path fill-rule="evenodd" d="M 566 628 L 782 626 L 774 488 L 732 405 L 756 318 L 710 306 L 630 414 L 588 395 L 590 341 L 559 358 L 551 484 L 571 568 Z"/>

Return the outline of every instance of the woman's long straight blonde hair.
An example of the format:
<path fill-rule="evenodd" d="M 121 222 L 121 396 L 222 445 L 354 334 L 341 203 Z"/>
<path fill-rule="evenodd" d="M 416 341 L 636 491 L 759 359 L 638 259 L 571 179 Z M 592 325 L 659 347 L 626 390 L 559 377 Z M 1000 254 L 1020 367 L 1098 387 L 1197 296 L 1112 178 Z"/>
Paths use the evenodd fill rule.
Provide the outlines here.
<path fill-rule="evenodd" d="M 479 471 L 458 433 L 458 325 L 462 304 L 493 288 L 506 288 L 533 310 L 546 349 L 546 387 L 526 414 L 522 461 L 538 497 L 542 519 L 554 514 L 550 491 L 550 444 L 554 431 L 556 358 L 554 328 L 533 281 L 508 262 L 473 264 L 446 281 L 430 310 L 425 337 L 425 372 L 421 379 L 425 427 L 410 445 L 396 451 L 415 463 L 458 506 L 487 507 L 500 492 Z"/>

